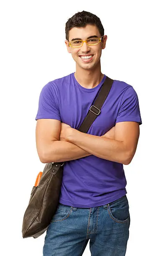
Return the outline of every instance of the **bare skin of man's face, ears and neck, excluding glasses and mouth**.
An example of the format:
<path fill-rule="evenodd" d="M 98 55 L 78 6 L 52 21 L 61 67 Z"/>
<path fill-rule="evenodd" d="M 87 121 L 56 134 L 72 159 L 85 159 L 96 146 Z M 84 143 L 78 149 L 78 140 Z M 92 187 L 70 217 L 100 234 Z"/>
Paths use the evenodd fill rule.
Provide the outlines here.
<path fill-rule="evenodd" d="M 69 31 L 69 41 L 73 38 L 81 38 L 86 40 L 87 37 L 96 35 L 101 37 L 98 28 L 94 25 L 87 25 L 84 28 L 72 28 Z M 69 42 L 65 41 L 67 51 L 72 54 L 72 58 L 76 62 L 75 78 L 85 88 L 93 88 L 97 86 L 104 74 L 101 72 L 100 57 L 102 50 L 105 49 L 107 36 L 103 36 L 102 42 L 94 46 L 88 46 L 85 42 L 82 47 L 72 48 Z M 79 55 L 93 54 L 93 59 L 90 63 L 84 63 Z"/>

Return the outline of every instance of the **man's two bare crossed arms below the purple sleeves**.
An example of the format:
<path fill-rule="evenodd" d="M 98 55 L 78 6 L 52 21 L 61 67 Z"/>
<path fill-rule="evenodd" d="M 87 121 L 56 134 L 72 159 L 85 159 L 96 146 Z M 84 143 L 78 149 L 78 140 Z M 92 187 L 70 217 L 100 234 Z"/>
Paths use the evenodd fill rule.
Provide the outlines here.
<path fill-rule="evenodd" d="M 70 161 L 91 154 L 122 164 L 130 164 L 133 159 L 139 138 L 139 124 L 136 122 L 116 123 L 105 135 L 94 136 L 61 122 L 56 125 L 55 132 L 55 121 L 60 122 L 37 120 L 36 147 L 43 163 Z M 48 122 L 51 133 L 47 129 L 46 134 L 44 128 Z"/>

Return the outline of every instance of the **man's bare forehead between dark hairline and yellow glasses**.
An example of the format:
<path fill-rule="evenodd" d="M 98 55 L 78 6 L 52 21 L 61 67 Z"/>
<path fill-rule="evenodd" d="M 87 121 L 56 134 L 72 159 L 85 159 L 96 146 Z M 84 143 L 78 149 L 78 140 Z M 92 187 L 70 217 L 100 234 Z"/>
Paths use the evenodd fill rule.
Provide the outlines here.
<path fill-rule="evenodd" d="M 71 41 L 72 38 L 81 38 L 85 40 L 87 39 L 87 37 L 94 36 L 94 35 L 98 37 L 101 36 L 97 26 L 88 24 L 85 27 L 72 28 L 69 31 L 69 41 Z"/>

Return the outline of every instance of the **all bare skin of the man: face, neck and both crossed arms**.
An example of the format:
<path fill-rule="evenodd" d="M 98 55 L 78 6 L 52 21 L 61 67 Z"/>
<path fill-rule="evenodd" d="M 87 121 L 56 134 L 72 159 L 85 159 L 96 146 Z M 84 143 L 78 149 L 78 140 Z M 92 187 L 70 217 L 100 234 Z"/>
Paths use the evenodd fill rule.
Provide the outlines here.
<path fill-rule="evenodd" d="M 87 25 L 83 28 L 72 28 L 69 31 L 69 41 L 72 38 L 86 40 L 89 36 L 101 37 L 98 28 Z M 102 80 L 100 57 L 105 49 L 107 36 L 94 46 L 85 42 L 82 47 L 69 47 L 65 41 L 67 51 L 72 54 L 76 63 L 74 76 L 82 87 L 87 89 L 96 87 Z M 84 63 L 79 55 L 92 54 L 92 61 Z M 36 125 L 36 146 L 39 158 L 43 163 L 61 162 L 94 155 L 109 161 L 129 164 L 133 159 L 139 138 L 139 124 L 136 122 L 120 122 L 103 136 L 94 136 L 79 132 L 70 125 L 59 120 L 39 119 Z M 100 145 L 100 146 L 99 146 Z"/>

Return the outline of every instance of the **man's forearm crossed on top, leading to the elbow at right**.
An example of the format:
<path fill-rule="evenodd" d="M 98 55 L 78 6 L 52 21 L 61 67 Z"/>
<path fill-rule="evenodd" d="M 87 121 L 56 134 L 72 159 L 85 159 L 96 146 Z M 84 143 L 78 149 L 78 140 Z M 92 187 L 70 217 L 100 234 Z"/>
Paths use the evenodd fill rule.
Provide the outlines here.
<path fill-rule="evenodd" d="M 75 129 L 69 135 L 67 141 L 74 143 L 94 156 L 117 163 L 128 164 L 128 152 L 123 141 L 103 136 L 94 136 Z"/>

